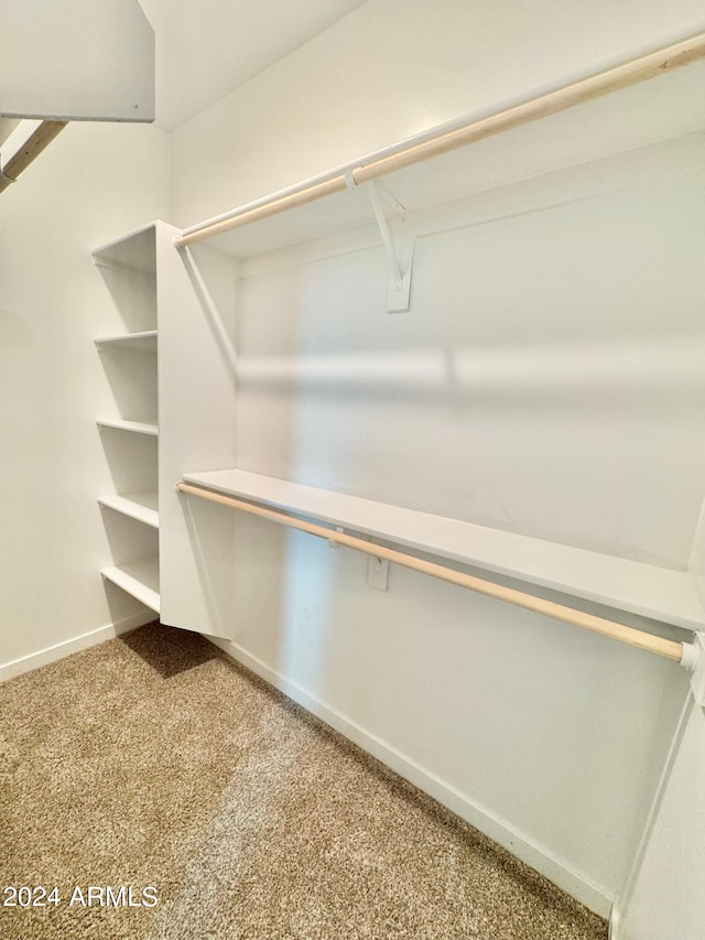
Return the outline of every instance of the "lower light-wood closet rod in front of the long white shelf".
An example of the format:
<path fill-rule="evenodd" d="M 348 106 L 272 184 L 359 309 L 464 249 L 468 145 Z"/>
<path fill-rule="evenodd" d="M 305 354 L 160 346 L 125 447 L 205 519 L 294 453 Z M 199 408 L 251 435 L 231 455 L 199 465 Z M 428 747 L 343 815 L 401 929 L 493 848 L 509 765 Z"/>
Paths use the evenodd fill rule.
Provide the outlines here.
<path fill-rule="evenodd" d="M 514 604 L 517 607 L 524 607 L 527 611 L 533 611 L 536 614 L 543 614 L 546 617 L 553 617 L 556 620 L 562 620 L 565 624 L 572 624 L 574 627 L 581 627 L 584 630 L 592 630 L 601 636 L 610 637 L 620 642 L 636 646 L 639 649 L 644 649 L 648 652 L 654 652 L 657 656 L 662 656 L 665 659 L 672 659 L 683 666 L 692 666 L 688 661 L 688 653 L 692 651 L 693 644 L 676 642 L 675 640 L 664 639 L 663 637 L 649 634 L 646 630 L 637 630 L 633 627 L 626 627 L 622 624 L 616 624 L 612 620 L 607 620 L 603 617 L 596 617 L 593 614 L 585 614 L 583 611 L 575 611 L 572 607 L 566 607 L 563 604 L 556 604 L 553 601 L 545 601 L 541 597 L 534 597 L 532 594 L 525 594 L 523 591 L 517 591 L 513 587 L 505 587 L 501 584 L 495 584 L 491 581 L 485 581 L 481 577 L 475 577 L 471 574 L 465 574 L 462 571 L 455 571 L 452 568 L 446 568 L 442 564 L 435 564 L 431 561 L 415 558 L 414 555 L 400 552 L 394 549 L 388 549 L 384 545 L 378 545 L 372 542 L 367 542 L 365 539 L 356 536 L 347 536 L 345 532 L 338 532 L 335 529 L 328 529 L 325 526 L 318 526 L 314 522 L 306 522 L 303 519 L 297 519 L 293 516 L 288 516 L 285 512 L 279 512 L 275 509 L 268 509 L 264 506 L 258 506 L 252 503 L 245 503 L 242 499 L 236 499 L 232 496 L 225 496 L 220 493 L 214 493 L 210 489 L 204 489 L 199 486 L 192 486 L 188 483 L 177 483 L 176 489 L 178 493 L 197 496 L 200 499 L 207 499 L 210 503 L 218 503 L 221 506 L 228 506 L 231 509 L 239 509 L 242 512 L 250 512 L 252 516 L 259 516 L 262 519 L 269 519 L 271 522 L 278 522 L 280 526 L 290 526 L 293 529 L 299 529 L 302 532 L 308 532 L 311 536 L 317 536 L 321 539 L 326 539 L 329 542 L 336 542 L 340 545 L 346 545 L 350 549 L 364 552 L 375 558 L 387 559 L 394 564 L 410 568 L 412 571 L 420 571 L 423 574 L 430 574 L 433 577 L 438 577 L 441 581 L 447 581 L 449 584 L 456 584 L 459 587 L 467 587 L 478 594 L 486 594 L 489 597 L 496 597 L 498 601 L 505 601 L 508 604 Z"/>

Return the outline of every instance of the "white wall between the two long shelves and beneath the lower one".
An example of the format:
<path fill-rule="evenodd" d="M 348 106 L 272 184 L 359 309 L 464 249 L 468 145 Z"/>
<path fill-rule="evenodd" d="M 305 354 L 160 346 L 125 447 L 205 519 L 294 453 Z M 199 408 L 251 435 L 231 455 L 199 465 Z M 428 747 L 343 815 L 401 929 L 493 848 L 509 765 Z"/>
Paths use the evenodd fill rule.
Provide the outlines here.
<path fill-rule="evenodd" d="M 705 349 L 699 266 L 670 266 L 668 246 L 703 246 L 684 217 L 704 184 L 421 238 L 409 314 L 384 311 L 380 248 L 245 278 L 238 466 L 684 566 L 705 478 L 688 363 Z M 651 235 L 630 239 L 639 226 Z M 429 387 L 417 376 L 438 357 L 446 378 Z M 674 463 L 685 441 L 691 461 Z M 473 822 L 501 820 L 588 903 L 585 885 L 618 893 L 676 667 L 398 570 L 380 595 L 364 560 L 258 523 L 238 520 L 238 647 L 423 768 L 424 787 L 443 781 Z"/>

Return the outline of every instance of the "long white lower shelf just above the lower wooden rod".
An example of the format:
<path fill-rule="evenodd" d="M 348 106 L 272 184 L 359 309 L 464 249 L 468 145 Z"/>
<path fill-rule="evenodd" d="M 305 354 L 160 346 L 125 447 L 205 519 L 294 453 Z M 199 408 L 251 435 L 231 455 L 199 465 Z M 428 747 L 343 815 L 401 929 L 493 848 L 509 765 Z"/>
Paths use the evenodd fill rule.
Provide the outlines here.
<path fill-rule="evenodd" d="M 702 628 L 705 623 L 705 611 L 687 572 L 246 471 L 192 473 L 184 474 L 184 479 L 619 611 L 687 629 Z"/>

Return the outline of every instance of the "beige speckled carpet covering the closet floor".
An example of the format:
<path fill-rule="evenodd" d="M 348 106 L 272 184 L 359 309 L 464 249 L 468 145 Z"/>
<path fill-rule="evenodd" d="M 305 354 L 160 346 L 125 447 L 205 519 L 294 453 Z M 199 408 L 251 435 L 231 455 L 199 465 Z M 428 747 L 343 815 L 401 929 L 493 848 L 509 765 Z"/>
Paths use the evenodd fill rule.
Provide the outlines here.
<path fill-rule="evenodd" d="M 156 624 L 0 685 L 0 887 L 58 888 L 56 905 L 0 908 L 2 940 L 607 937 L 206 640 Z M 158 904 L 138 907 L 145 886 Z"/>

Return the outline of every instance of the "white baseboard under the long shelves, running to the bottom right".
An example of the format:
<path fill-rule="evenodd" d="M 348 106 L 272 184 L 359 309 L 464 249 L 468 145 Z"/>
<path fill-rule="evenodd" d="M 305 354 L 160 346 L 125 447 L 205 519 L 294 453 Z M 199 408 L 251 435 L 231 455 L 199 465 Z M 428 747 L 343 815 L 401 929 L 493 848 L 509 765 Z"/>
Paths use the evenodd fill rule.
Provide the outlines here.
<path fill-rule="evenodd" d="M 228 656 L 241 662 L 252 672 L 264 679 L 270 685 L 279 689 L 294 702 L 302 705 L 325 724 L 371 754 L 400 777 L 409 780 L 420 790 L 433 797 L 456 815 L 469 822 L 485 835 L 497 842 L 517 858 L 525 862 L 532 868 L 544 875 L 566 894 L 574 897 L 585 907 L 600 917 L 608 918 L 614 898 L 600 885 L 592 882 L 586 875 L 572 868 L 565 861 L 555 856 L 545 846 L 523 835 L 511 824 L 495 815 L 490 810 L 474 802 L 465 793 L 445 784 L 430 770 L 414 760 L 405 757 L 399 750 L 386 744 L 376 735 L 360 727 L 330 705 L 308 693 L 301 685 L 290 681 L 280 672 L 267 666 L 246 649 L 230 640 L 206 636 L 207 640 L 217 646 Z"/>

